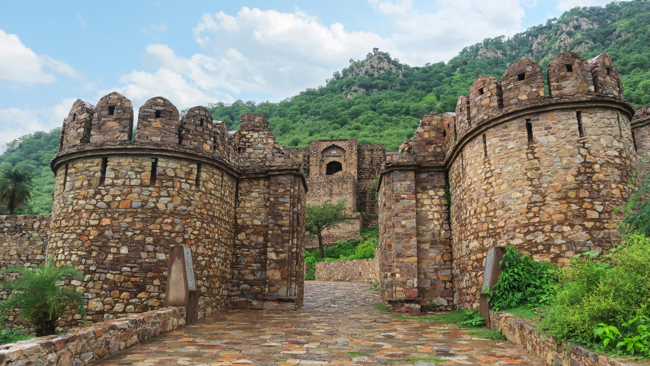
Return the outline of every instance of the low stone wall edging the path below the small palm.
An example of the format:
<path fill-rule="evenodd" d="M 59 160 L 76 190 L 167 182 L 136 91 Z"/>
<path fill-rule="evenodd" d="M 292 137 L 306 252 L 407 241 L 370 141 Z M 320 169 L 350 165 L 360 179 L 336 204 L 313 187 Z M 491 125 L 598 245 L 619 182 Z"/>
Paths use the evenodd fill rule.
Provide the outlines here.
<path fill-rule="evenodd" d="M 159 337 L 185 325 L 185 307 L 163 307 L 131 317 L 73 329 L 66 334 L 49 335 L 0 346 L 3 366 L 84 366 L 106 356 Z M 212 313 L 199 303 L 198 318 Z"/>

